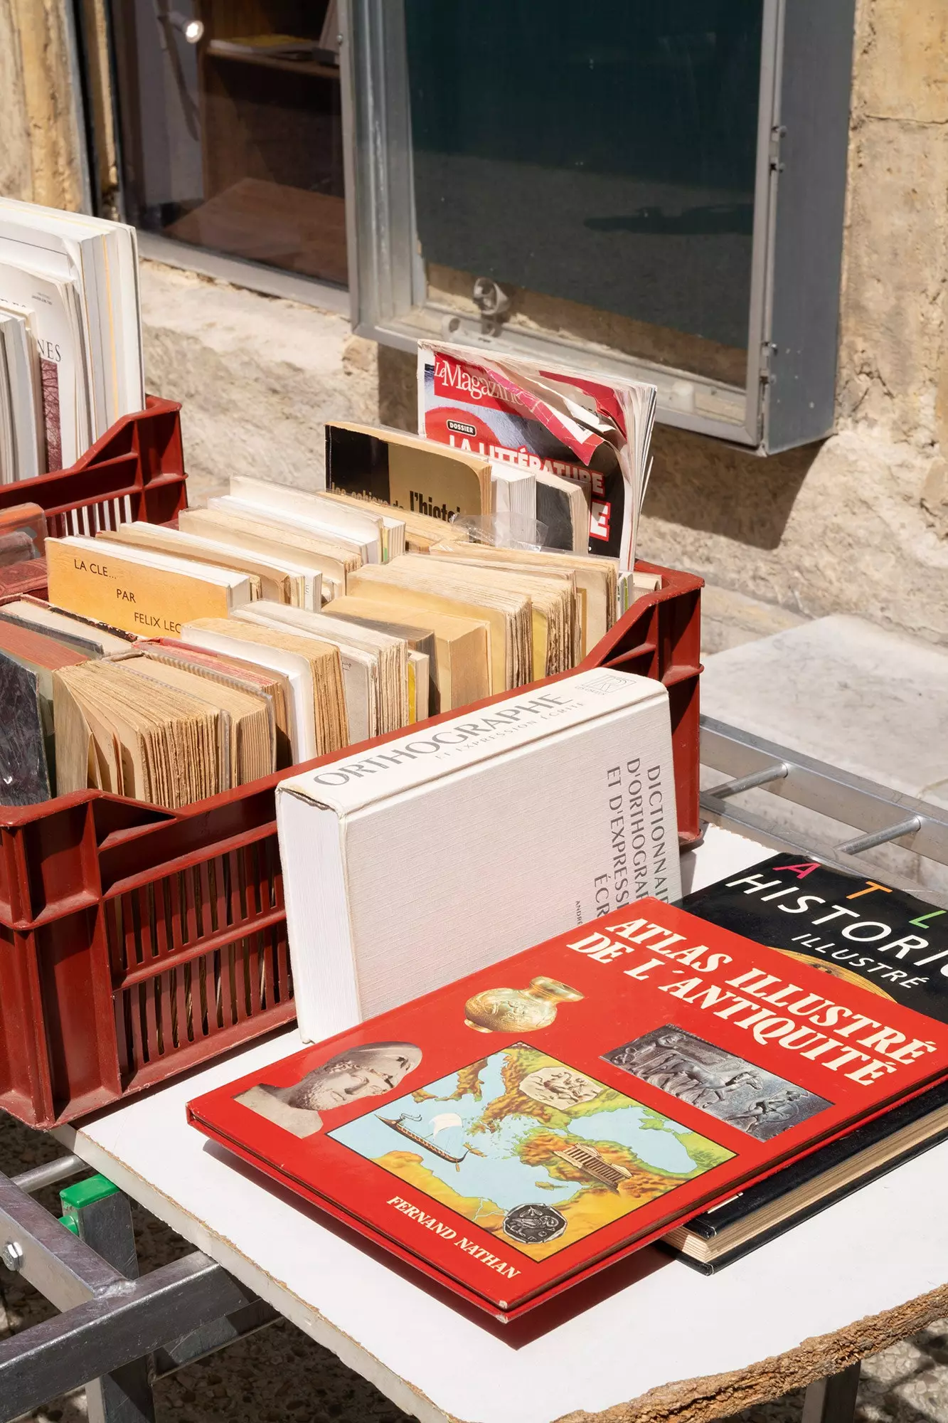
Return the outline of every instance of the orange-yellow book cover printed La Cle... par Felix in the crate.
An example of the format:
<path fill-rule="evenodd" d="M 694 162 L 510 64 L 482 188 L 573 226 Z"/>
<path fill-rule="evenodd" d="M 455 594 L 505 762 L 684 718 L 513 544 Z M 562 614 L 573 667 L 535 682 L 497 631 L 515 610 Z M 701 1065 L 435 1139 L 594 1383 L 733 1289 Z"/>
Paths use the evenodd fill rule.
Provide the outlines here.
<path fill-rule="evenodd" d="M 182 622 L 229 613 L 226 588 L 132 564 L 104 539 L 102 552 L 91 554 L 50 538 L 46 561 L 51 603 L 139 638 L 179 638 Z"/>

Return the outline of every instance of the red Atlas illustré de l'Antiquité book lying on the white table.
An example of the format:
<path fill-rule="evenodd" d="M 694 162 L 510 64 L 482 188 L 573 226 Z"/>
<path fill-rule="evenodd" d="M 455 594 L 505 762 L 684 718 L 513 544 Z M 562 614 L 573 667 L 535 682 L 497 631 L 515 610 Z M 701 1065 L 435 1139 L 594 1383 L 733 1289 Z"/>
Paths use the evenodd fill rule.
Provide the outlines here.
<path fill-rule="evenodd" d="M 512 1319 L 948 1072 L 948 1027 L 641 899 L 189 1120 Z"/>

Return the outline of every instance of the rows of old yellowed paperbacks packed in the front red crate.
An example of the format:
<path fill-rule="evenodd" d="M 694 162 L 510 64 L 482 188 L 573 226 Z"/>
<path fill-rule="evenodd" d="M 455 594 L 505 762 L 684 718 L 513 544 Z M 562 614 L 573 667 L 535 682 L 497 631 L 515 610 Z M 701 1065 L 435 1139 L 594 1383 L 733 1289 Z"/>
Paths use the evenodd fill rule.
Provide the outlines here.
<path fill-rule="evenodd" d="M 655 586 L 651 576 L 623 575 L 615 558 L 473 539 L 444 512 L 448 498 L 491 498 L 497 481 L 483 460 L 367 427 L 330 427 L 327 438 L 330 475 L 342 460 L 350 488 L 309 494 L 235 477 L 209 508 L 182 511 L 177 528 L 127 524 L 44 545 L 60 616 L 142 643 L 178 639 L 204 663 L 219 656 L 265 667 L 282 679 L 285 720 L 270 710 L 258 741 L 246 707 L 195 709 L 182 699 L 194 697 L 189 679 L 205 676 L 204 666 L 164 670 L 165 692 L 131 720 L 120 716 L 125 703 L 137 707 L 138 679 L 158 676 L 141 647 L 134 663 L 108 656 L 101 666 L 48 667 L 47 713 L 61 719 L 61 736 L 54 741 L 47 714 L 46 773 L 14 773 L 0 800 L 30 804 L 53 787 L 94 787 L 179 808 L 569 672 L 635 596 L 636 581 Z M 356 468 L 372 478 L 352 492 Z M 416 468 L 416 502 L 428 511 L 437 504 L 438 514 L 380 498 L 394 490 L 411 502 L 413 491 L 397 481 Z M 167 649 L 161 662 L 167 667 Z M 218 670 L 226 679 L 233 667 Z M 216 703 L 222 696 L 215 693 Z M 198 712 L 211 716 L 206 734 L 194 730 L 202 750 L 189 753 L 202 764 L 175 770 L 175 737 L 192 734 Z M 228 717 L 236 719 L 232 730 Z M 158 740 L 145 754 L 137 747 L 152 733 Z M 253 750 L 238 751 L 238 743 Z"/>

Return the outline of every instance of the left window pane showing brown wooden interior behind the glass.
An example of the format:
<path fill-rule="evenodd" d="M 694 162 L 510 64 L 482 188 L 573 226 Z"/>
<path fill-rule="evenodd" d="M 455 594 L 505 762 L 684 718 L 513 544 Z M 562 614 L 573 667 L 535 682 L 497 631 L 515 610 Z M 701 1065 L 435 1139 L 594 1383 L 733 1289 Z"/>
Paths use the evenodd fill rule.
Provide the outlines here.
<path fill-rule="evenodd" d="M 346 282 L 333 0 L 112 0 L 130 222 Z"/>

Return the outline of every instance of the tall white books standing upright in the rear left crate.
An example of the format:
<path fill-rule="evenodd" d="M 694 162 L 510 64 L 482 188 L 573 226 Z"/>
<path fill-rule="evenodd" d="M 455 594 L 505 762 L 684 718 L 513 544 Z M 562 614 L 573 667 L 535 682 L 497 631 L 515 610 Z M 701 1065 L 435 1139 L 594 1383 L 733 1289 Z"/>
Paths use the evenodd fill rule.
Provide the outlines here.
<path fill-rule="evenodd" d="M 144 404 L 134 228 L 0 198 L 0 482 L 68 468 Z"/>

